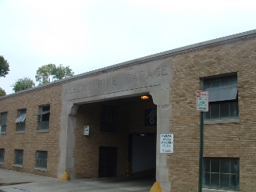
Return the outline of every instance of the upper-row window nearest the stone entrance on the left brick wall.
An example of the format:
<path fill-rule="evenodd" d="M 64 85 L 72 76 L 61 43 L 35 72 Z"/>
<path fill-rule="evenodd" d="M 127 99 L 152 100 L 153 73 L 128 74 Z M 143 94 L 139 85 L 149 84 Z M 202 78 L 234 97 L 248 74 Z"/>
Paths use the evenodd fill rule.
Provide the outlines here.
<path fill-rule="evenodd" d="M 50 105 L 39 106 L 39 113 L 34 116 L 38 116 L 38 130 L 49 129 Z"/>

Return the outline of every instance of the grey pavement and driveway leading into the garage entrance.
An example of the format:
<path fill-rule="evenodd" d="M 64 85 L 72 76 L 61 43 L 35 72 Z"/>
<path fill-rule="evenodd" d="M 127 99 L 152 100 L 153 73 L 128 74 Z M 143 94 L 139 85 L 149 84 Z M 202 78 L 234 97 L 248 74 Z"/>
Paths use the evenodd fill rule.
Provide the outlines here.
<path fill-rule="evenodd" d="M 6 173 L 6 174 L 5 174 Z M 15 184 L 19 182 L 30 182 Z M 11 184 L 14 185 L 6 185 Z M 12 172 L 0 169 L 0 191 L 1 192 L 41 192 L 41 191 L 89 191 L 89 192 L 123 192 L 137 191 L 148 192 L 155 179 L 124 177 L 124 178 L 104 178 L 104 179 L 87 179 L 59 181 L 54 178 L 35 176 L 23 172 Z"/>

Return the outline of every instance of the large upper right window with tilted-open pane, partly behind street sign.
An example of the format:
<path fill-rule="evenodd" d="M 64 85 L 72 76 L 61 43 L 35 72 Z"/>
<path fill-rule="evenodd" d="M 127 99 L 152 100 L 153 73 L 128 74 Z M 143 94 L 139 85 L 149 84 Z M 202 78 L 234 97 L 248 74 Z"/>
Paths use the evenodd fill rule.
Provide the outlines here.
<path fill-rule="evenodd" d="M 209 111 L 205 120 L 238 119 L 237 76 L 204 79 L 203 90 L 209 92 Z"/>

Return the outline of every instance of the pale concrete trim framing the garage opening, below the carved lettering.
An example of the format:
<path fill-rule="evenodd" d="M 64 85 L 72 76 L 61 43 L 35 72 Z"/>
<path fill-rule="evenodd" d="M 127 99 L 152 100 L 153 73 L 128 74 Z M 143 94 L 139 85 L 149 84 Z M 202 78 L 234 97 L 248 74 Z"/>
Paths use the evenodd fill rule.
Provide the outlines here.
<path fill-rule="evenodd" d="M 74 178 L 74 158 L 73 150 L 75 148 L 76 113 L 79 105 L 90 102 L 105 101 L 116 98 L 126 98 L 140 94 L 151 94 L 153 102 L 157 105 L 158 126 L 157 126 L 157 148 L 159 148 L 159 138 L 162 133 L 169 133 L 169 118 L 172 113 L 172 106 L 169 102 L 170 84 L 145 87 L 129 91 L 119 91 L 111 94 L 103 94 L 88 98 L 78 98 L 62 102 L 62 119 L 59 147 L 61 156 L 59 158 L 58 177 L 61 178 L 62 172 L 67 169 L 70 172 L 71 179 Z M 170 190 L 169 167 L 167 166 L 167 155 L 161 154 L 157 150 L 156 154 L 156 178 L 163 189 Z M 169 187 L 168 187 L 169 186 Z"/>

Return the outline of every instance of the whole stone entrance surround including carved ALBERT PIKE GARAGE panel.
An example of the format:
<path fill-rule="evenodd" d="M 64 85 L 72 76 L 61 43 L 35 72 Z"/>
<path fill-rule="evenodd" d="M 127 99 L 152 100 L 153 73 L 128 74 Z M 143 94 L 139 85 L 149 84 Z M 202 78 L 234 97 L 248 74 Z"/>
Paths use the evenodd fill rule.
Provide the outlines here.
<path fill-rule="evenodd" d="M 171 116 L 170 84 L 172 59 L 126 62 L 116 66 L 84 73 L 62 85 L 62 118 L 59 147 L 58 176 L 64 170 L 75 178 L 73 151 L 75 148 L 76 114 L 80 105 L 135 95 L 150 94 L 157 105 L 156 180 L 165 191 L 170 190 L 167 155 L 159 151 L 159 135 L 169 133 Z"/>

